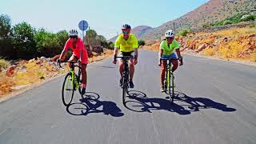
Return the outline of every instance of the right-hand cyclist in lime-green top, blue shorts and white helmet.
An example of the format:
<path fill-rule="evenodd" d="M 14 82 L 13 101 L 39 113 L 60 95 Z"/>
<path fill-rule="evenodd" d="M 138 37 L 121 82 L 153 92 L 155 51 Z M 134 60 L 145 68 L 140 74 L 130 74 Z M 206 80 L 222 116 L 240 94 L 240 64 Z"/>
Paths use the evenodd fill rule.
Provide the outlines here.
<path fill-rule="evenodd" d="M 166 73 L 166 61 L 161 62 L 160 58 L 177 58 L 176 56 L 177 54 L 178 58 L 181 58 L 180 66 L 183 65 L 182 55 L 179 50 L 179 44 L 176 40 L 174 40 L 174 36 L 175 36 L 174 30 L 167 30 L 165 36 L 166 36 L 166 39 L 163 40 L 159 46 L 158 66 L 162 67 L 161 74 L 160 74 L 161 92 L 164 92 L 163 83 L 164 83 L 164 78 Z M 178 60 L 173 60 L 172 64 L 173 64 L 172 72 L 174 72 L 178 68 Z"/>

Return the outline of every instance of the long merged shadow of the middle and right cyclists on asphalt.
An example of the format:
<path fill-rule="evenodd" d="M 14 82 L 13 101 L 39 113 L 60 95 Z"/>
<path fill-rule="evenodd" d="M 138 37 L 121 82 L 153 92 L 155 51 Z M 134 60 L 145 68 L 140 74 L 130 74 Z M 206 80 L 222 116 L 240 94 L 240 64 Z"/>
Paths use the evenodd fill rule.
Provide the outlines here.
<path fill-rule="evenodd" d="M 148 98 L 145 93 L 138 90 L 130 90 L 128 92 L 125 106 L 129 110 L 135 112 L 149 112 L 152 110 L 167 110 L 181 115 L 191 114 L 191 112 L 201 109 L 217 109 L 225 112 L 235 111 L 222 103 L 214 102 L 209 98 L 191 98 L 186 94 L 175 91 L 174 103 L 169 98 Z M 178 104 L 177 104 L 178 103 Z"/>

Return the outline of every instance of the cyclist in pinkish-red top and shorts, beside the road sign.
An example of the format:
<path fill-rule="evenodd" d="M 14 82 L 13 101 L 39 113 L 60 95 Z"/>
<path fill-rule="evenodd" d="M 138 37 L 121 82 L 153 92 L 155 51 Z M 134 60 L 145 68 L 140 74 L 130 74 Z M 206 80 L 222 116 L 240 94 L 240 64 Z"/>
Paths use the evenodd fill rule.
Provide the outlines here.
<path fill-rule="evenodd" d="M 73 51 L 72 56 L 70 57 L 70 61 L 80 61 L 82 67 L 82 94 L 86 93 L 86 81 L 87 81 L 87 74 L 86 74 L 86 66 L 88 64 L 88 54 L 87 50 L 84 47 L 81 38 L 78 38 L 78 31 L 77 30 L 70 30 L 69 32 L 70 38 L 66 41 L 64 49 L 62 50 L 62 54 L 60 56 L 60 60 L 66 58 L 66 51 L 70 48 Z"/>

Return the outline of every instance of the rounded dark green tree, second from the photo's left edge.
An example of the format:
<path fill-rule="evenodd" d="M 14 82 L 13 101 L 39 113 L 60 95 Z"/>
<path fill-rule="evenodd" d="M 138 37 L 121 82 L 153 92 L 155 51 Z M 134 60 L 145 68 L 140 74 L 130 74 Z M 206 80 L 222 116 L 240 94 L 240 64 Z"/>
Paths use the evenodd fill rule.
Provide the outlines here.
<path fill-rule="evenodd" d="M 26 22 L 14 26 L 14 50 L 17 53 L 17 58 L 29 59 L 36 56 L 34 33 L 34 28 Z"/>

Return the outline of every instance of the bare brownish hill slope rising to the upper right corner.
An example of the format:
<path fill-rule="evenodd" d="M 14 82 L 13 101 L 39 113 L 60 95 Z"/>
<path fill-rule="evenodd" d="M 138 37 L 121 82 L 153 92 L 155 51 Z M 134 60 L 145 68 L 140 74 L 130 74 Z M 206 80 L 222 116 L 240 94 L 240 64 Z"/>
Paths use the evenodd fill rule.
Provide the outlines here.
<path fill-rule="evenodd" d="M 180 18 L 154 29 L 146 29 L 138 36 L 144 40 L 158 40 L 167 29 L 200 28 L 205 24 L 230 18 L 235 14 L 256 13 L 256 0 L 210 0 Z"/>

